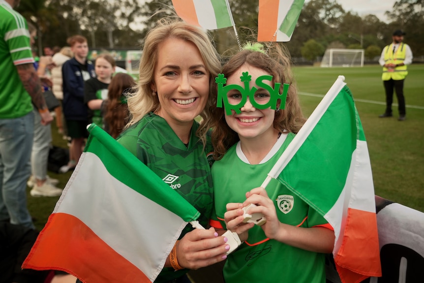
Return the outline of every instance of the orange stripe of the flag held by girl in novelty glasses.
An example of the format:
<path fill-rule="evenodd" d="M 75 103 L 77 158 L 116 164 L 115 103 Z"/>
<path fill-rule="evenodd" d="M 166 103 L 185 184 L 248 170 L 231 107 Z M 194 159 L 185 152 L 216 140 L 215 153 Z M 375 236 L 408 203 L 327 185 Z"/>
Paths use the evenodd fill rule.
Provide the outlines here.
<path fill-rule="evenodd" d="M 342 282 L 361 282 L 370 276 L 380 277 L 380 247 L 378 238 L 374 237 L 377 235 L 376 214 L 349 208 L 345 227 L 341 247 L 334 256 Z"/>

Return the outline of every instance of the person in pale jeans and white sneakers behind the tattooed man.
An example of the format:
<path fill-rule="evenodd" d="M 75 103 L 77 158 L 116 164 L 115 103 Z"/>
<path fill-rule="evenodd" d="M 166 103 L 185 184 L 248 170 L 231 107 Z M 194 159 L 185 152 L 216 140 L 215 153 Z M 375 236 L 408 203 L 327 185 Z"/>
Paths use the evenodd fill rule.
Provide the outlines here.
<path fill-rule="evenodd" d="M 32 45 L 37 30 L 31 24 L 28 24 L 28 29 L 30 31 L 30 42 Z M 36 66 L 39 77 L 44 77 L 46 67 L 49 63 L 50 65 L 53 63 L 51 56 L 42 56 L 40 58 L 40 63 Z M 56 188 L 53 183 L 57 185 L 59 182 L 49 182 L 47 178 L 47 161 L 49 158 L 50 144 L 52 142 L 52 128 L 51 125 L 41 125 L 41 116 L 38 111 L 33 110 L 33 113 L 34 138 L 31 151 L 31 171 L 34 182 L 30 194 L 32 196 L 58 196 L 61 195 L 62 190 Z"/>

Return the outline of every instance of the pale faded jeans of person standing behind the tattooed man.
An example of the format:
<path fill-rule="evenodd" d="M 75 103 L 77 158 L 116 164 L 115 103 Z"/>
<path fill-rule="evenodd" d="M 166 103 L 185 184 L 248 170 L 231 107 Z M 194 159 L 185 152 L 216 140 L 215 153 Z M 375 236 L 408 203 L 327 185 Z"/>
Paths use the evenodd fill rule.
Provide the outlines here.
<path fill-rule="evenodd" d="M 38 110 L 34 113 L 34 140 L 31 153 L 32 175 L 38 180 L 47 178 L 47 161 L 49 158 L 50 143 L 52 142 L 52 126 L 41 125 L 41 116 Z"/>

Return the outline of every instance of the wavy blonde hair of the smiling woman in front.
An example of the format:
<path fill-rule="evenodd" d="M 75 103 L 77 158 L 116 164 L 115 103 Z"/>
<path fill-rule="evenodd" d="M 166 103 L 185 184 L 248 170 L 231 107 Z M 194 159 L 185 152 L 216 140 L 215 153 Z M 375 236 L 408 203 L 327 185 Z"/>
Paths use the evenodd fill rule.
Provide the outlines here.
<path fill-rule="evenodd" d="M 200 27 L 173 18 L 160 19 L 157 22 L 157 26 L 146 35 L 143 54 L 140 59 L 140 80 L 135 86 L 135 92 L 127 98 L 130 111 L 130 121 L 127 127 L 140 121 L 149 112 L 157 112 L 160 109 L 157 95 L 152 95 L 151 83 L 154 80 L 153 75 L 157 63 L 158 45 L 168 38 L 178 38 L 196 45 L 206 69 L 209 71 L 209 97 L 205 109 L 200 113 L 203 122 L 196 132 L 196 135 L 205 145 L 206 134 L 211 127 L 212 90 L 215 77 L 221 68 L 221 62 L 218 53 L 212 45 L 212 39 L 205 31 Z"/>

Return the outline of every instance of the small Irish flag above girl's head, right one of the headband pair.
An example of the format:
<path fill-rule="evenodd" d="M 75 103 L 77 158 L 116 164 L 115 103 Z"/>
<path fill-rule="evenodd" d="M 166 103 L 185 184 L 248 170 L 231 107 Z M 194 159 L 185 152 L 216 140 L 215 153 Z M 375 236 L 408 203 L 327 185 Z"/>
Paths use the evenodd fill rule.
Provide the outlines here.
<path fill-rule="evenodd" d="M 258 41 L 290 41 L 304 0 L 259 0 Z"/>

